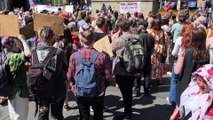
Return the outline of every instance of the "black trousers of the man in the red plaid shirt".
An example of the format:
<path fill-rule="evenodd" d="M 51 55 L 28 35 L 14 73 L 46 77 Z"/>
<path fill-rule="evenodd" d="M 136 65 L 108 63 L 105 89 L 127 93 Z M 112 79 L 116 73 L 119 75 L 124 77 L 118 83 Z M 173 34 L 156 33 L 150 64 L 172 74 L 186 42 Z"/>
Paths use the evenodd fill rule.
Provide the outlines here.
<path fill-rule="evenodd" d="M 104 95 L 98 97 L 77 97 L 80 120 L 90 120 L 90 106 L 94 110 L 94 120 L 103 120 Z"/>

